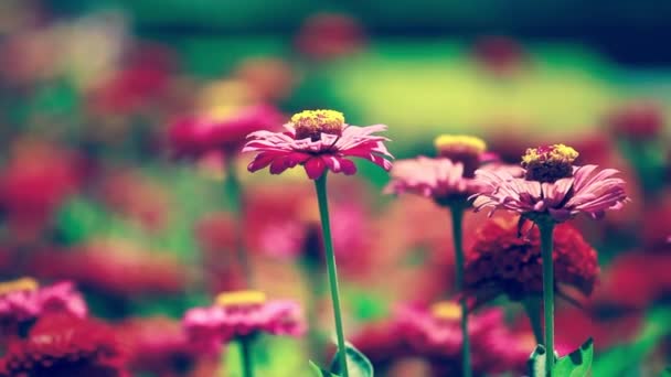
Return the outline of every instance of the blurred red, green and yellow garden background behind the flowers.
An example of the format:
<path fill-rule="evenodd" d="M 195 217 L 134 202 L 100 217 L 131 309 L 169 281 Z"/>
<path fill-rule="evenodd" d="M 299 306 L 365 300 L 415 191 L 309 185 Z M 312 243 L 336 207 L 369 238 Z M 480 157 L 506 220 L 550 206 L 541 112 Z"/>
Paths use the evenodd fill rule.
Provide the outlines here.
<path fill-rule="evenodd" d="M 583 309 L 561 305 L 557 338 L 575 348 L 595 336 L 595 376 L 654 375 L 671 341 L 660 320 L 671 308 L 669 20 L 671 2 L 626 0 L 3 0 L 0 278 L 73 280 L 115 325 L 174 327 L 188 308 L 239 288 L 242 235 L 259 289 L 316 308 L 324 344 L 323 274 L 301 256 L 318 219 L 305 173 L 252 175 L 251 157 L 236 158 L 238 227 L 224 161 L 177 159 L 175 119 L 331 108 L 352 125 L 388 125 L 396 158 L 433 155 L 450 132 L 482 137 L 513 163 L 564 142 L 582 163 L 622 171 L 632 201 L 576 220 L 601 281 Z M 383 195 L 387 174 L 358 166 L 330 182 L 350 334 L 454 280 L 448 214 Z M 483 219 L 468 214 L 467 246 Z M 319 358 L 308 341 L 267 342 L 263 376 L 302 375 Z M 235 376 L 235 359 L 201 375 Z M 423 376 L 409 364 L 388 375 Z"/>

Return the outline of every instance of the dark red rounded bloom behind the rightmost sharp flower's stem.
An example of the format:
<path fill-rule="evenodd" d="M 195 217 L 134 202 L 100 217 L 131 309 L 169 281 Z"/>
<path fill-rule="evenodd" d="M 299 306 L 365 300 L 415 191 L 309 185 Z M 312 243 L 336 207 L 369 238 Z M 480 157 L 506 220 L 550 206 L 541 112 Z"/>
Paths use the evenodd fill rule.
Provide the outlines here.
<path fill-rule="evenodd" d="M 489 219 L 476 233 L 466 255 L 466 292 L 478 302 L 504 293 L 513 300 L 543 292 L 541 240 L 537 227 L 519 229 L 518 217 Z M 554 271 L 557 284 L 575 287 L 585 295 L 598 274 L 596 251 L 568 224 L 554 230 Z M 562 292 L 562 291 L 561 291 Z"/>

